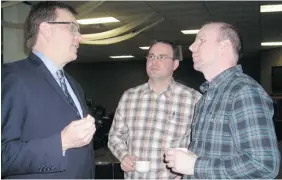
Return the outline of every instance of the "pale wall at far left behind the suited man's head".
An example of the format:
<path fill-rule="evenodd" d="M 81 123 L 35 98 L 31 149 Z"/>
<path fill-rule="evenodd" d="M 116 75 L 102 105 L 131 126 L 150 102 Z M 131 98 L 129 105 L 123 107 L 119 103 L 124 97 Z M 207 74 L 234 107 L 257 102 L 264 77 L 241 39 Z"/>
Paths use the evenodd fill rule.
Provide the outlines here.
<path fill-rule="evenodd" d="M 2 8 L 3 20 L 23 24 L 30 10 L 30 6 L 19 3 L 10 7 Z M 4 24 L 2 23 L 2 26 Z M 24 32 L 23 28 L 16 29 L 3 27 L 3 63 L 13 62 L 26 57 L 24 53 Z"/>

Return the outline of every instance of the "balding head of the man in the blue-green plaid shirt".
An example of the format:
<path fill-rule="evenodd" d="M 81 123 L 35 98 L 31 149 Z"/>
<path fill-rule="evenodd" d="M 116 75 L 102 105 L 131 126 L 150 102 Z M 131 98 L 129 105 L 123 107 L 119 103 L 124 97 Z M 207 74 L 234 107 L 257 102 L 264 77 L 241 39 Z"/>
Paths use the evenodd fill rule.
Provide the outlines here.
<path fill-rule="evenodd" d="M 189 49 L 194 69 L 204 73 L 206 79 L 212 79 L 237 64 L 241 50 L 240 36 L 230 24 L 208 23 L 197 33 Z"/>

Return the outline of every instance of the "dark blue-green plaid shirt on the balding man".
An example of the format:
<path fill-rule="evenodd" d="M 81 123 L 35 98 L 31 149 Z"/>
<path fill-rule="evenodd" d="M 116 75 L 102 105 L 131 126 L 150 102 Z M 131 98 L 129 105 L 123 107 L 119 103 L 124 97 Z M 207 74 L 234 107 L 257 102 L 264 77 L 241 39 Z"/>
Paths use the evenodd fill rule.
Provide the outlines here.
<path fill-rule="evenodd" d="M 272 100 L 263 88 L 237 65 L 201 91 L 189 146 L 199 157 L 190 178 L 275 178 L 280 153 Z"/>

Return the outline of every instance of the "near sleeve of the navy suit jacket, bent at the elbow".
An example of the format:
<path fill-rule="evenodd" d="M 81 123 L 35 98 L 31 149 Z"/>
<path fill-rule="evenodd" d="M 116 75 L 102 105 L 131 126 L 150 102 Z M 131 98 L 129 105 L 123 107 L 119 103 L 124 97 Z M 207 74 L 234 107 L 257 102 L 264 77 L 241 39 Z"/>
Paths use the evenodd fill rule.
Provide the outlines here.
<path fill-rule="evenodd" d="M 28 104 L 27 87 L 21 77 L 8 71 L 3 68 L 1 78 L 2 177 L 63 171 L 65 158 L 62 155 L 60 133 L 42 139 L 23 140 L 28 106 L 36 109 Z"/>

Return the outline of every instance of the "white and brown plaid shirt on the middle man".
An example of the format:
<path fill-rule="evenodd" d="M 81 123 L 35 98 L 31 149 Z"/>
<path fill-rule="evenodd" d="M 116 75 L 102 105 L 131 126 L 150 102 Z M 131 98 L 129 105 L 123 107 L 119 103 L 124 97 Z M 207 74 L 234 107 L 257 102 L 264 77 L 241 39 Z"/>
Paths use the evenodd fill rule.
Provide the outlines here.
<path fill-rule="evenodd" d="M 201 94 L 174 80 L 157 95 L 148 83 L 127 90 L 118 105 L 108 147 L 121 161 L 126 154 L 150 161 L 150 172 L 125 172 L 126 179 L 171 179 L 163 162 L 168 148 L 188 147 L 194 106 Z"/>

